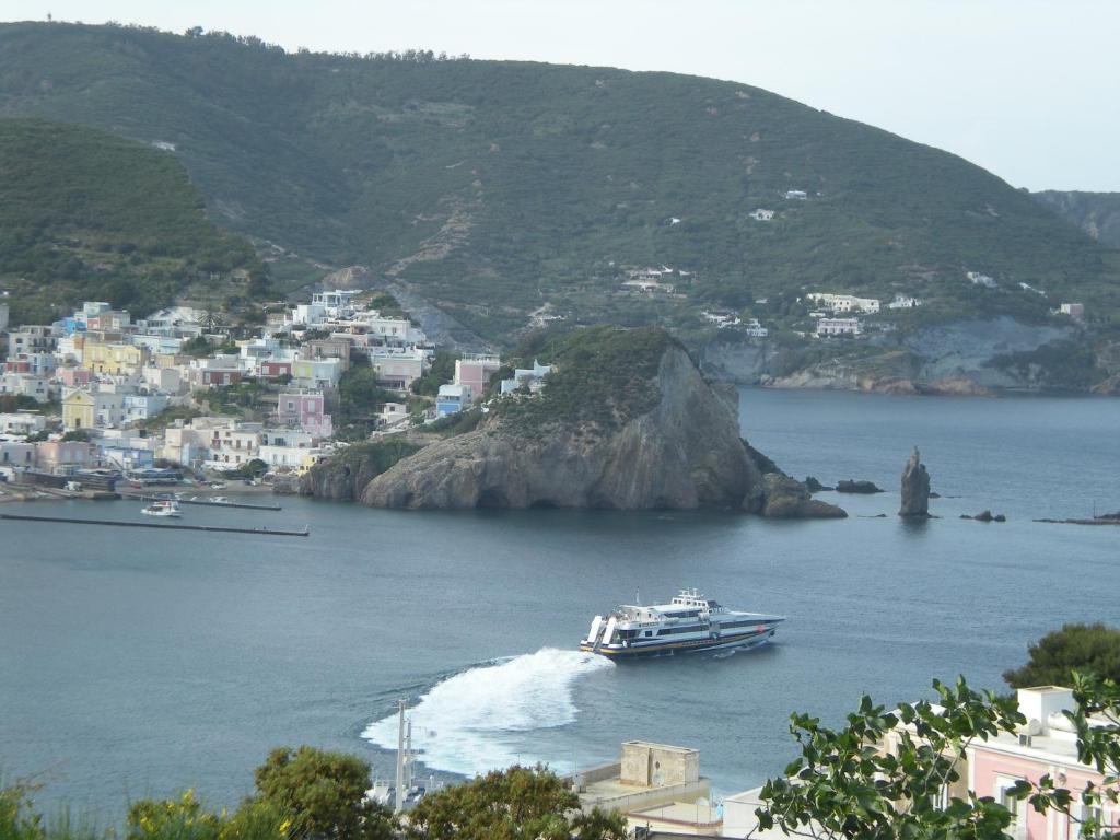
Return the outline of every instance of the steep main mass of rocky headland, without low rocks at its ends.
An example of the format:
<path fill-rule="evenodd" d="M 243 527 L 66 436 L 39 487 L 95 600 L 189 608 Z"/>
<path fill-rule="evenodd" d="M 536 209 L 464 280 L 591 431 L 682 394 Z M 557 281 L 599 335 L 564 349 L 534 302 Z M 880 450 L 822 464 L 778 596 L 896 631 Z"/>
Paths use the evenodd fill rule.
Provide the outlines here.
<path fill-rule="evenodd" d="M 627 330 L 584 333 L 589 335 L 571 342 L 571 361 L 561 362 L 562 375 L 541 396 L 505 403 L 512 408 L 492 411 L 480 428 L 401 460 L 366 485 L 362 502 L 410 508 L 762 508 L 762 476 L 739 439 L 735 407 L 713 393 L 683 348 L 668 336 L 660 344 L 650 338 L 660 330 L 632 332 L 634 343 L 645 339 L 655 351 L 653 376 L 613 383 L 613 390 L 638 396 L 586 409 L 562 403 L 571 393 L 585 399 L 579 389 L 569 390 L 575 377 L 594 375 L 594 383 L 603 383 L 617 375 L 595 370 L 603 364 L 596 354 L 626 355 L 622 344 L 612 345 L 625 342 Z M 619 416 L 635 404 L 645 410 Z M 566 409 L 570 417 L 561 416 Z M 530 410 L 535 413 L 526 420 Z"/>

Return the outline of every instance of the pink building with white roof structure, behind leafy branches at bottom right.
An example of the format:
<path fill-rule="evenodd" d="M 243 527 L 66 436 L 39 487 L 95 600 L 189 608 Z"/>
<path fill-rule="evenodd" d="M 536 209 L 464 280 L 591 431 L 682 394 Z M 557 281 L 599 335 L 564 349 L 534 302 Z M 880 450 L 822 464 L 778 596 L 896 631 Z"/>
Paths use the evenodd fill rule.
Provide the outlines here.
<path fill-rule="evenodd" d="M 1043 685 L 1019 689 L 1018 697 L 1027 725 L 1017 735 L 973 743 L 969 788 L 978 796 L 992 796 L 1016 813 L 1010 832 L 1016 840 L 1076 840 L 1081 837 L 1079 821 L 1088 816 L 1079 794 L 1089 782 L 1100 785 L 1102 776 L 1077 760 L 1077 735 L 1063 713 L 1074 707 L 1073 691 Z M 1047 773 L 1060 787 L 1073 793 L 1073 819 L 1056 811 L 1038 813 L 1027 802 L 1007 795 L 1019 780 L 1037 784 Z M 1120 824 L 1120 811 L 1105 809 L 1095 815 L 1103 824 Z"/>

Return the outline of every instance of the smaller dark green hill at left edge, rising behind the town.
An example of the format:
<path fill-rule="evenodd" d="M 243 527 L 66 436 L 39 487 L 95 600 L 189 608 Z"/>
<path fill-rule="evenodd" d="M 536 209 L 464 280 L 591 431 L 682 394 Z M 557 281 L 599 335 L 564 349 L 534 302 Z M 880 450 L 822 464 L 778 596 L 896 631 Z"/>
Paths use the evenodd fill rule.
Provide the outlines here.
<path fill-rule="evenodd" d="M 206 217 L 172 155 L 82 125 L 0 119 L 0 286 L 12 323 L 49 321 L 83 299 L 141 315 L 212 277 L 224 300 L 248 290 L 236 269 L 263 277 L 252 245 Z"/>

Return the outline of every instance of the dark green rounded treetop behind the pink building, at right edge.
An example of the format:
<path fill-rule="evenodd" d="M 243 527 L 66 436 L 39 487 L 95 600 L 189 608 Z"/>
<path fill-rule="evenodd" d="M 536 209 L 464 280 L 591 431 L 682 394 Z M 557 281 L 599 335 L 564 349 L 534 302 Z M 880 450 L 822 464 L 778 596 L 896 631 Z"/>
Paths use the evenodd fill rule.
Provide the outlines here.
<path fill-rule="evenodd" d="M 1014 689 L 1072 685 L 1073 672 L 1120 681 L 1120 629 L 1096 624 L 1066 624 L 1027 648 L 1026 665 L 1004 672 Z"/>

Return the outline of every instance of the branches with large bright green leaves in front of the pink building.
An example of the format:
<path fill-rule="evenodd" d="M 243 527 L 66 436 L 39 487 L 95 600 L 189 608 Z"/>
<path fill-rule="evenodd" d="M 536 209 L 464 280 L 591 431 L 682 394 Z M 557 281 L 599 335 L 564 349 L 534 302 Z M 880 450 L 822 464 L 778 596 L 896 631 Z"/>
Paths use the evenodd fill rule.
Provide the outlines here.
<path fill-rule="evenodd" d="M 1039 813 L 1065 814 L 1086 840 L 1116 838 L 1100 814 L 1116 809 L 1120 794 L 1120 688 L 1076 673 L 1073 685 L 1074 709 L 1066 717 L 1077 734 L 1077 757 L 1104 783 L 1070 791 L 1044 775 L 1035 785 L 1016 782 L 1008 795 Z M 973 740 L 1014 734 L 1026 719 L 1014 698 L 977 693 L 964 678 L 953 687 L 934 680 L 933 687 L 939 707 L 923 700 L 887 712 L 865 696 L 838 730 L 794 713 L 790 731 L 801 755 L 784 777 L 763 786 L 758 828 L 822 839 L 1010 840 L 1011 811 L 962 790 L 961 773 Z"/>

